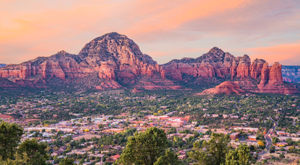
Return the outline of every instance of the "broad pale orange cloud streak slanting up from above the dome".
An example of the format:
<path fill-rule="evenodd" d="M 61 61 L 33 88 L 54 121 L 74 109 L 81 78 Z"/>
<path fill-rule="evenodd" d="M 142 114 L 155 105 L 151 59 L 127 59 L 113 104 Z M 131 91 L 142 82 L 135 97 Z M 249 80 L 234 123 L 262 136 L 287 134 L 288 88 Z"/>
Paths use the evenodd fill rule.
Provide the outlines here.
<path fill-rule="evenodd" d="M 248 0 L 214 0 L 214 1 L 184 1 L 180 5 L 173 6 L 172 4 L 179 1 L 167 1 L 168 3 L 163 3 L 163 1 L 155 1 L 157 3 L 157 8 L 163 6 L 171 6 L 171 8 L 162 8 L 156 14 L 150 14 L 145 19 L 138 21 L 132 28 L 125 31 L 126 34 L 132 36 L 153 33 L 153 32 L 168 32 L 175 30 L 183 23 L 188 21 L 199 19 L 201 17 L 208 17 L 211 14 L 216 14 L 226 10 L 232 10 L 238 8 L 239 5 L 245 4 Z M 161 4 L 162 3 L 162 4 Z M 179 2 L 180 3 L 180 2 Z M 153 4 L 153 3 L 152 3 Z M 155 4 L 155 3 L 154 3 Z M 152 8 L 153 6 L 143 6 L 145 8 Z"/>

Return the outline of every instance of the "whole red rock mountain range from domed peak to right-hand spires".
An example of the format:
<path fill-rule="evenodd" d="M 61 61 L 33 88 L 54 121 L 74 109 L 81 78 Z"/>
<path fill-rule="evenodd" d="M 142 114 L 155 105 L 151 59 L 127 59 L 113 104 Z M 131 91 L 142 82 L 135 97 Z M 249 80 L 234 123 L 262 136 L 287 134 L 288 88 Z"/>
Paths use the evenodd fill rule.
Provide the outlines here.
<path fill-rule="evenodd" d="M 49 57 L 1 67 L 0 78 L 21 87 L 75 89 L 200 88 L 232 80 L 246 91 L 297 92 L 283 83 L 279 63 L 272 67 L 258 59 L 251 63 L 247 55 L 234 57 L 213 47 L 199 58 L 183 58 L 158 65 L 143 54 L 134 41 L 116 32 L 93 39 L 78 55 L 61 51 Z"/>

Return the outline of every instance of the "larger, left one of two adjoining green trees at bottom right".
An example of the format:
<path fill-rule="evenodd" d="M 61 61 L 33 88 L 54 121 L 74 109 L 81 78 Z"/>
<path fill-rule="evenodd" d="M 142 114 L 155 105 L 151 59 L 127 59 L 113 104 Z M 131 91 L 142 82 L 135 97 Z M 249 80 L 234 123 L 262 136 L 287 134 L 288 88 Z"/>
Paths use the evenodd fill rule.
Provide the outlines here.
<path fill-rule="evenodd" d="M 212 137 L 208 142 L 194 143 L 190 157 L 195 159 L 199 165 L 223 164 L 226 161 L 226 153 L 228 153 L 228 142 L 230 142 L 229 135 L 212 133 Z"/>

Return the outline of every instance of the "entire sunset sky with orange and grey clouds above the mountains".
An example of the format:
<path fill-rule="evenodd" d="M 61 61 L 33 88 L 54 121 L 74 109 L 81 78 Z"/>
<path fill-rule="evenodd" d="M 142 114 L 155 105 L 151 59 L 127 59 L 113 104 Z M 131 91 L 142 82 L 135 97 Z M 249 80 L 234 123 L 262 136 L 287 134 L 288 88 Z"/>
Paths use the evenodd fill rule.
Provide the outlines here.
<path fill-rule="evenodd" d="M 299 0 L 0 0 L 0 63 L 124 34 L 159 64 L 212 47 L 269 65 L 300 65 Z"/>

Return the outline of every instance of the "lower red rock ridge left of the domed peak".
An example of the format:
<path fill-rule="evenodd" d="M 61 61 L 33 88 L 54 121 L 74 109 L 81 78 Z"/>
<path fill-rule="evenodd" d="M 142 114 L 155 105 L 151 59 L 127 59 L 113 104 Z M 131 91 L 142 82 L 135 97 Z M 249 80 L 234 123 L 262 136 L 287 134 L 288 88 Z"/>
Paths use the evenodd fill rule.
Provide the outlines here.
<path fill-rule="evenodd" d="M 82 76 L 77 55 L 61 51 L 50 57 L 38 57 L 19 65 L 8 65 L 0 69 L 0 77 L 8 78 L 23 87 L 48 87 L 52 78 L 75 78 Z"/>

